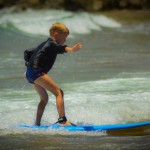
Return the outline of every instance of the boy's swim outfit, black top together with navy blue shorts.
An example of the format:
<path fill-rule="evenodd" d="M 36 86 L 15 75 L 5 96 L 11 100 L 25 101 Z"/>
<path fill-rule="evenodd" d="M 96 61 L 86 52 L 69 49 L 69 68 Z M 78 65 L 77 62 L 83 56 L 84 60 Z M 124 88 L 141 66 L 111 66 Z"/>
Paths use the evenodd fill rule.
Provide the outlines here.
<path fill-rule="evenodd" d="M 26 63 L 28 82 L 34 83 L 38 77 L 48 73 L 56 60 L 57 54 L 66 53 L 65 47 L 66 45 L 57 44 L 53 39 L 49 38 L 35 48 L 29 62 Z"/>

